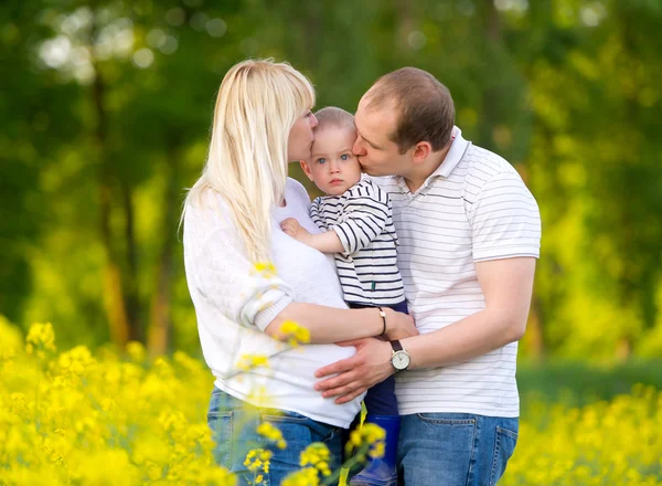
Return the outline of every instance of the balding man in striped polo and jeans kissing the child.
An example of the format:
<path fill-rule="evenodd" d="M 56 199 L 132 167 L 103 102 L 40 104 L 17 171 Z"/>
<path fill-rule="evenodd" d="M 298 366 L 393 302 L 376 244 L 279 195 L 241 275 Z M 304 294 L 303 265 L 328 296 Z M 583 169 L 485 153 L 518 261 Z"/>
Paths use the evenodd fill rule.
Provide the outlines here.
<path fill-rule="evenodd" d="M 318 371 L 343 403 L 397 372 L 399 480 L 492 485 L 517 440 L 517 340 L 540 256 L 540 212 L 512 166 L 462 138 L 448 89 L 387 74 L 361 98 L 353 151 L 389 193 L 398 266 L 420 336 L 362 339 Z M 399 372 L 402 371 L 402 372 Z"/>

